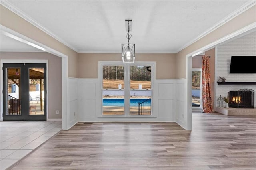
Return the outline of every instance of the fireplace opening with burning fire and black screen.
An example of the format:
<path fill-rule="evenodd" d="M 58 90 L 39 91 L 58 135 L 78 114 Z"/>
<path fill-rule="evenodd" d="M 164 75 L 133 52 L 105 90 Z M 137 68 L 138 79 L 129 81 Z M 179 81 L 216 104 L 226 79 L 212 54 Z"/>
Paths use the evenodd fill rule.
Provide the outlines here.
<path fill-rule="evenodd" d="M 254 90 L 252 89 L 229 91 L 228 97 L 229 107 L 254 108 Z"/>

